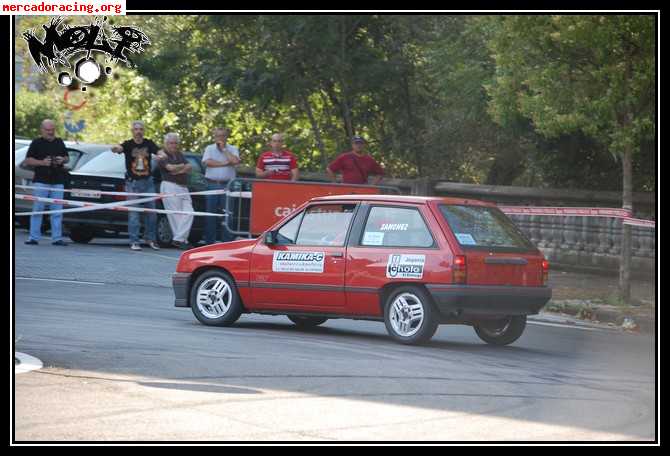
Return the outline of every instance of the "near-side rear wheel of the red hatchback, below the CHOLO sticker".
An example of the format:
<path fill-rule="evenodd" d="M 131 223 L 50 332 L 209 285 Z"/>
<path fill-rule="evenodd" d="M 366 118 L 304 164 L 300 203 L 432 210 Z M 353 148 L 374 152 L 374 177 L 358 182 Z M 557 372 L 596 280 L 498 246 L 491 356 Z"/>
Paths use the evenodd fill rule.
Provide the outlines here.
<path fill-rule="evenodd" d="M 384 306 L 386 330 L 402 344 L 420 344 L 433 337 L 439 325 L 428 294 L 419 287 L 393 290 Z"/>

